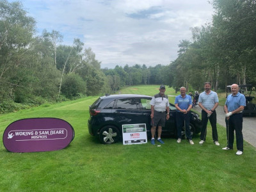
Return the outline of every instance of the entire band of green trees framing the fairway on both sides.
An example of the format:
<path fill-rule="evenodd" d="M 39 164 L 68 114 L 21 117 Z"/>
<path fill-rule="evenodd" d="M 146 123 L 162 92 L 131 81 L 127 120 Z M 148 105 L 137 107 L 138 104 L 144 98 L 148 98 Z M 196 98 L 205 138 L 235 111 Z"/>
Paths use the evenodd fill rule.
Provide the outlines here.
<path fill-rule="evenodd" d="M 0 0 L 0 113 L 136 84 L 186 86 L 189 91 L 202 89 L 205 81 L 214 90 L 230 83 L 255 84 L 255 1 L 211 3 L 212 22 L 191 28 L 192 41 L 180 41 L 177 59 L 169 65 L 100 68 L 79 38 L 63 45 L 59 31 L 36 35 L 35 19 L 22 3 Z"/>

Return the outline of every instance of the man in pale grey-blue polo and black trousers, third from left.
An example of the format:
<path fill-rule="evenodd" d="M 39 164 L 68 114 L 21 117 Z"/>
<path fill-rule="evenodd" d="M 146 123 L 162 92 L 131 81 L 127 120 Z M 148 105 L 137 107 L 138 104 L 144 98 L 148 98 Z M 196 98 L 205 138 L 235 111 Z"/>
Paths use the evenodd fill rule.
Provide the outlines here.
<path fill-rule="evenodd" d="M 211 83 L 204 83 L 205 92 L 200 93 L 198 99 L 198 105 L 202 108 L 202 131 L 200 134 L 200 142 L 199 144 L 203 144 L 205 142 L 206 133 L 207 133 L 207 123 L 208 119 L 211 122 L 212 126 L 212 140 L 215 145 L 220 145 L 218 142 L 218 132 L 217 132 L 217 115 L 215 109 L 218 107 L 219 99 L 216 92 L 212 92 Z"/>

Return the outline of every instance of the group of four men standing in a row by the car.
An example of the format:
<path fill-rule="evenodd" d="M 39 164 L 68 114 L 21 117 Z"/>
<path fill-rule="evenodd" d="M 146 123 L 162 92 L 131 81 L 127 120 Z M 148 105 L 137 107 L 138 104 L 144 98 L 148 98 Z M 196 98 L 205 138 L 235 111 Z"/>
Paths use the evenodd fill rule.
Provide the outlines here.
<path fill-rule="evenodd" d="M 217 115 L 216 108 L 219 104 L 218 95 L 216 92 L 211 90 L 211 83 L 204 83 L 205 91 L 200 93 L 198 99 L 198 105 L 202 108 L 202 131 L 200 134 L 200 142 L 202 145 L 206 140 L 207 134 L 207 123 L 208 120 L 212 127 L 212 140 L 217 146 L 220 146 L 218 142 L 218 131 L 217 131 Z M 225 102 L 225 121 L 227 125 L 227 147 L 222 148 L 223 150 L 231 150 L 234 144 L 234 131 L 236 131 L 236 145 L 237 155 L 243 154 L 243 109 L 246 106 L 246 100 L 243 94 L 239 93 L 239 87 L 237 84 L 232 84 L 232 93 L 228 95 Z M 151 105 L 151 143 L 155 145 L 155 133 L 157 127 L 157 141 L 164 144 L 161 140 L 162 127 L 165 125 L 165 121 L 170 118 L 170 104 L 167 95 L 164 94 L 165 86 L 161 85 L 159 93 L 154 95 L 150 101 Z M 190 110 L 192 108 L 192 99 L 190 95 L 186 94 L 186 88 L 180 88 L 180 95 L 175 97 L 175 107 L 177 108 L 175 118 L 177 126 L 177 143 L 181 142 L 182 139 L 182 126 L 185 127 L 185 136 L 191 145 L 194 145 L 192 140 L 191 131 L 189 129 L 189 118 Z M 167 111 L 167 115 L 166 112 Z"/>

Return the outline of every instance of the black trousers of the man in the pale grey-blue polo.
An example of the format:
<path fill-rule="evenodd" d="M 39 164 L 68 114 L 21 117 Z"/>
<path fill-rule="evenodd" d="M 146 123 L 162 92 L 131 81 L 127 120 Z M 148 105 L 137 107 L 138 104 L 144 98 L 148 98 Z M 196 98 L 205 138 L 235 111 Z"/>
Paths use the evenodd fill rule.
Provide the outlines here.
<path fill-rule="evenodd" d="M 207 123 L 208 119 L 210 120 L 211 126 L 212 126 L 212 140 L 218 141 L 218 132 L 217 132 L 217 115 L 216 111 L 213 111 L 212 115 L 208 117 L 208 114 L 202 110 L 202 131 L 200 134 L 200 140 L 204 140 L 206 138 L 207 134 Z"/>

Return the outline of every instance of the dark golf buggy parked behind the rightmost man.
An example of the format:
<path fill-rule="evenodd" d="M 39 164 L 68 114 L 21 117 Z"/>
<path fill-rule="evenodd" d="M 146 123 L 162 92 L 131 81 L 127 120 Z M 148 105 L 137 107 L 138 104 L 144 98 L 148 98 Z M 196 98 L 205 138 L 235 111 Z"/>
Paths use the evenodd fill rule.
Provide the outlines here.
<path fill-rule="evenodd" d="M 255 97 L 252 97 L 252 91 L 254 90 L 252 84 L 240 84 L 239 85 L 239 92 L 244 94 L 246 99 L 246 106 L 243 110 L 243 116 L 255 116 L 256 115 L 256 104 L 252 103 L 252 100 Z M 228 93 L 231 93 L 231 85 L 227 86 L 227 97 Z"/>

